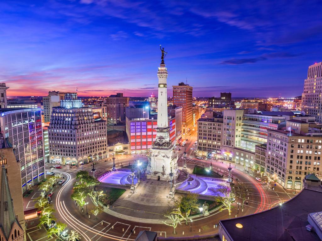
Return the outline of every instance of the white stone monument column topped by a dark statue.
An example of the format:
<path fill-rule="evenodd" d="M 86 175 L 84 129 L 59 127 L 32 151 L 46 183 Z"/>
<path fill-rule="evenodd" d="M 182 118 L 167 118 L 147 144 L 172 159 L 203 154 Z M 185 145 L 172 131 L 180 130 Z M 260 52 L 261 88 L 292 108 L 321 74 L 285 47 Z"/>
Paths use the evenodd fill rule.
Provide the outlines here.
<path fill-rule="evenodd" d="M 156 127 L 156 140 L 151 148 L 151 162 L 147 168 L 147 179 L 161 181 L 170 180 L 171 169 L 173 176 L 178 175 L 177 159 L 173 156 L 173 143 L 170 140 L 168 126 L 168 105 L 167 105 L 167 85 L 166 79 L 168 71 L 164 63 L 167 54 L 164 48 L 161 48 L 161 64 L 158 67 L 158 115 Z"/>

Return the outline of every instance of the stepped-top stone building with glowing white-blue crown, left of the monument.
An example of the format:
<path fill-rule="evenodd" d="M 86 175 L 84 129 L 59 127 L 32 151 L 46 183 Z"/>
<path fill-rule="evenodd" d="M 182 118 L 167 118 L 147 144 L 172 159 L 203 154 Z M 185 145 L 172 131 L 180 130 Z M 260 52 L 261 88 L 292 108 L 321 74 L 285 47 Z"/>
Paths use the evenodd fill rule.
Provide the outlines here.
<path fill-rule="evenodd" d="M 78 166 L 107 158 L 106 135 L 106 121 L 95 120 L 92 107 L 77 98 L 61 100 L 48 128 L 50 161 Z"/>

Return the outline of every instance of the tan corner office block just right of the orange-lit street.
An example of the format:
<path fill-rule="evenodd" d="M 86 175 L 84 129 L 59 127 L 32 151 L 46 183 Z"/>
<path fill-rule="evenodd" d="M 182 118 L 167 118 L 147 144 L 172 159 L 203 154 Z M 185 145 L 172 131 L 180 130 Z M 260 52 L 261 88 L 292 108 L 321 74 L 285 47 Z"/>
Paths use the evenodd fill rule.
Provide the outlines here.
<path fill-rule="evenodd" d="M 197 123 L 197 154 L 216 159 L 220 158 L 223 115 L 216 112 L 207 112 Z"/>

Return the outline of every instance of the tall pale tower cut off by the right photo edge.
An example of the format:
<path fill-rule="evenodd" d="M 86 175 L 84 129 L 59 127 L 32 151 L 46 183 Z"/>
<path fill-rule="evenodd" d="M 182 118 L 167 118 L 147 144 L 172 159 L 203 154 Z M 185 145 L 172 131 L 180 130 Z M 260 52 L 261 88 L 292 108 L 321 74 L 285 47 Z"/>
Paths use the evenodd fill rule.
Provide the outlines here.
<path fill-rule="evenodd" d="M 315 116 L 315 121 L 322 123 L 322 62 L 308 67 L 302 94 L 302 111 Z"/>

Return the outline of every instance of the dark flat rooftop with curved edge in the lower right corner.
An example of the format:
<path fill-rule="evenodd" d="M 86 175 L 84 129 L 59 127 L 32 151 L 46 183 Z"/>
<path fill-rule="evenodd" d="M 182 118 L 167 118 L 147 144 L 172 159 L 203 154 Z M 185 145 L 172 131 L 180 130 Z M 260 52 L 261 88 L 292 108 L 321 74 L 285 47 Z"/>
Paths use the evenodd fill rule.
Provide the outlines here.
<path fill-rule="evenodd" d="M 308 214 L 322 210 L 322 192 L 303 189 L 297 196 L 270 210 L 235 219 L 221 220 L 220 225 L 231 240 L 319 240 L 306 230 Z M 237 228 L 236 224 L 242 224 Z"/>

